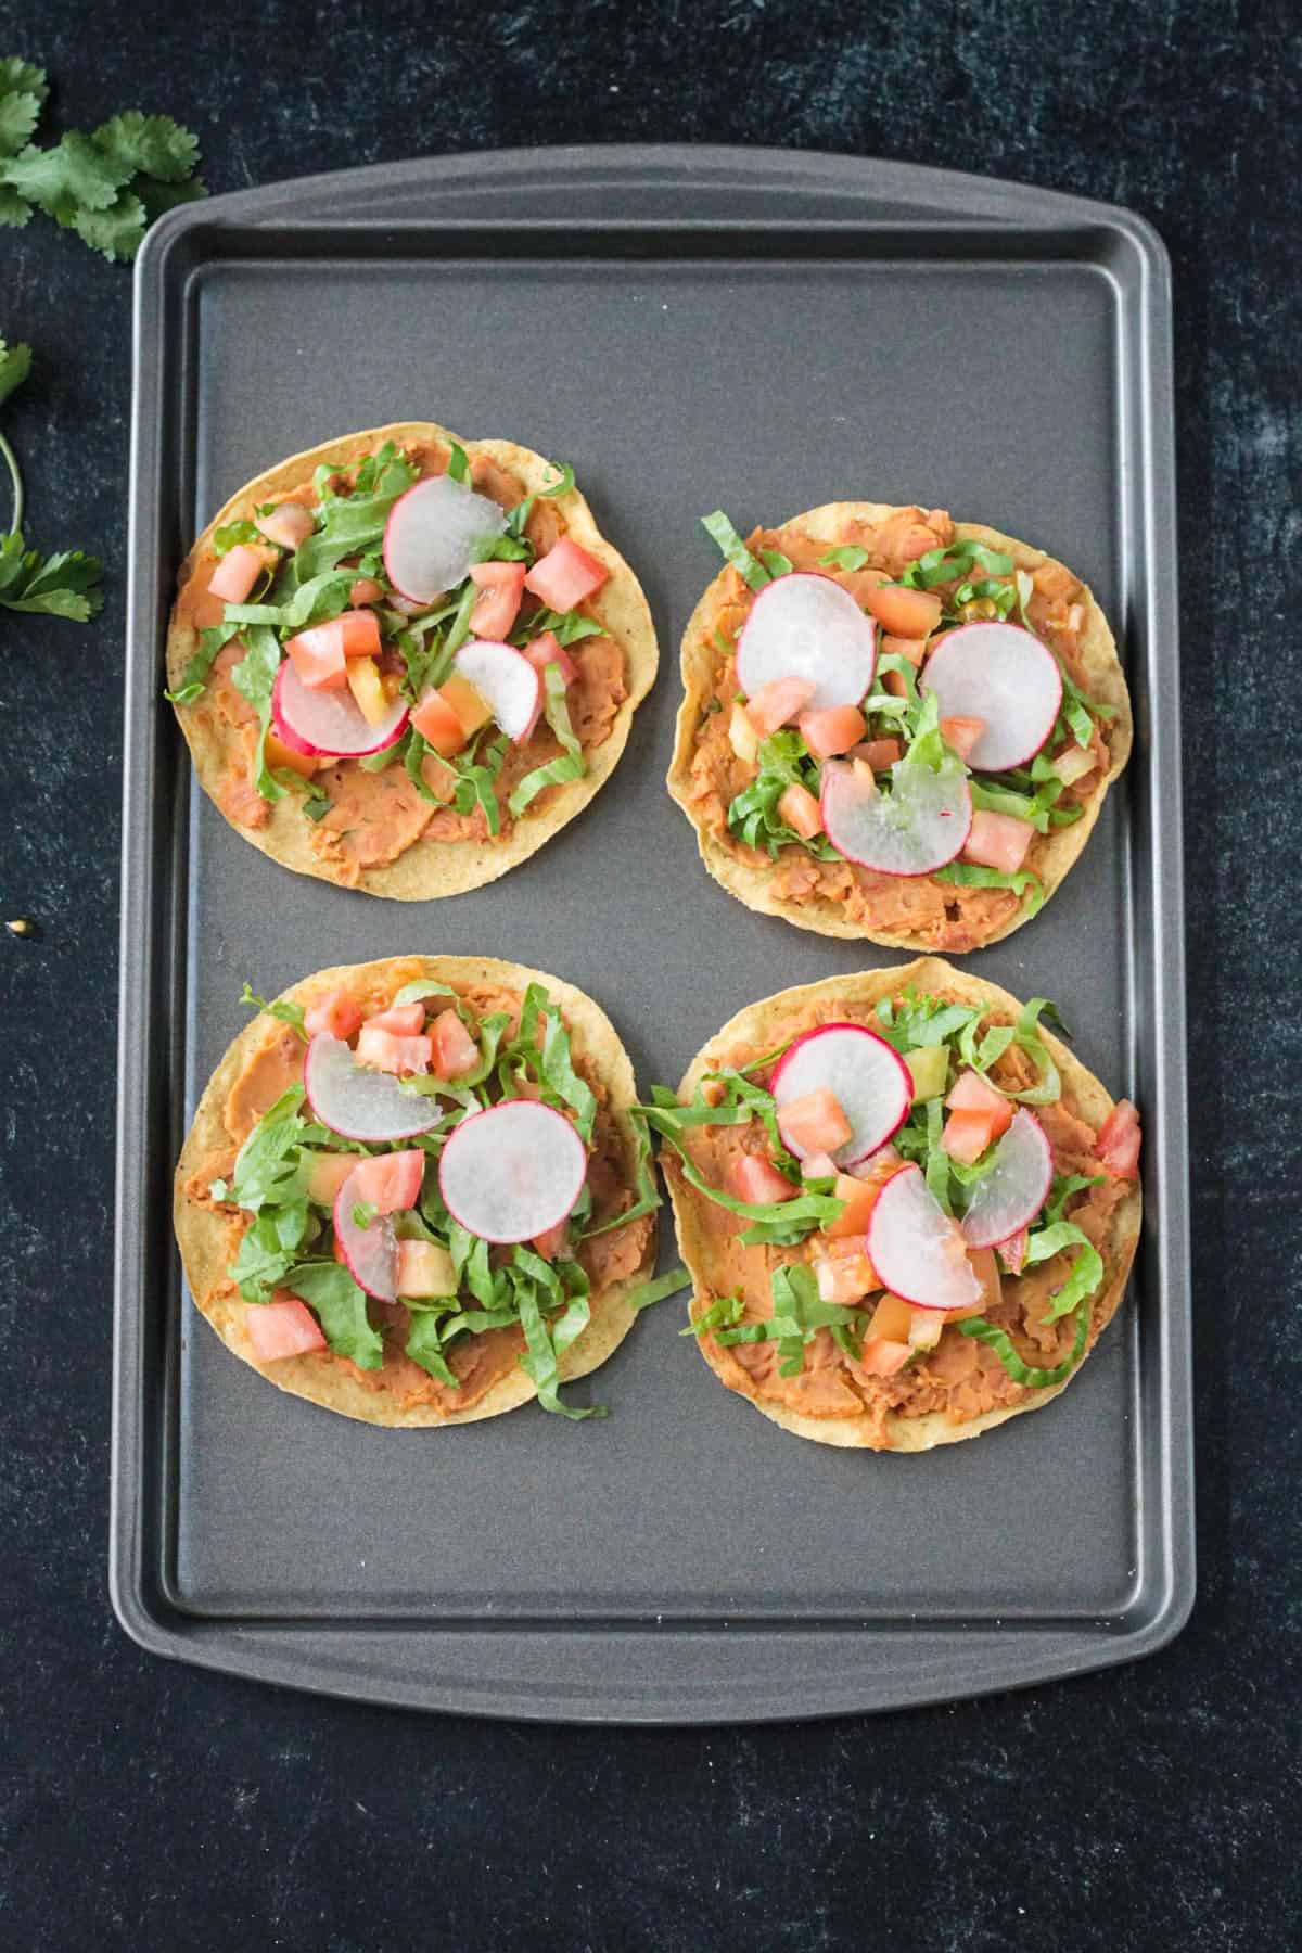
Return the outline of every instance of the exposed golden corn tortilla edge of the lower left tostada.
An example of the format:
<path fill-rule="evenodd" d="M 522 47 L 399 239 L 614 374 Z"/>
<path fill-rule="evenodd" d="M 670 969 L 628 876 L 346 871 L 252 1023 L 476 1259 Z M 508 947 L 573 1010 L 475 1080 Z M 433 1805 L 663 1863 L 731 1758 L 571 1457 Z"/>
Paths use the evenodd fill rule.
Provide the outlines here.
<path fill-rule="evenodd" d="M 330 990 L 347 990 L 365 1010 L 379 1010 L 404 984 L 418 980 L 443 982 L 455 990 L 496 984 L 521 994 L 529 982 L 547 984 L 552 1002 L 560 1004 L 576 1064 L 586 1060 L 605 1086 L 607 1103 L 619 1129 L 625 1170 L 629 1180 L 632 1178 L 636 1154 L 636 1139 L 629 1121 L 629 1105 L 636 1100 L 632 1064 L 601 1006 L 576 990 L 574 984 L 549 976 L 545 971 L 527 969 L 523 963 L 502 963 L 496 957 L 385 957 L 377 963 L 344 963 L 338 969 L 318 971 L 281 992 L 281 1000 L 306 1008 Z M 242 1301 L 226 1275 L 234 1252 L 232 1244 L 238 1236 L 228 1217 L 187 1199 L 185 1182 L 215 1152 L 230 1146 L 223 1117 L 226 1096 L 248 1060 L 265 1045 L 275 1043 L 283 1029 L 279 1019 L 260 1014 L 240 1031 L 205 1086 L 176 1168 L 172 1205 L 176 1238 L 185 1281 L 199 1312 L 207 1316 L 228 1350 L 234 1350 L 244 1363 L 250 1363 L 277 1389 L 289 1391 L 293 1396 L 306 1396 L 308 1402 L 338 1410 L 346 1418 L 359 1418 L 363 1424 L 383 1424 L 396 1430 L 476 1424 L 480 1418 L 498 1418 L 506 1410 L 527 1404 L 529 1398 L 537 1396 L 537 1389 L 523 1369 L 500 1377 L 468 1410 L 439 1410 L 435 1404 L 402 1408 L 387 1402 L 387 1392 L 367 1389 L 353 1375 L 351 1365 L 328 1351 L 283 1357 L 275 1363 L 260 1363 L 254 1355 L 244 1318 L 258 1305 Z M 648 1246 L 634 1273 L 601 1291 L 593 1287 L 591 1322 L 558 1361 L 562 1383 L 597 1369 L 625 1340 L 634 1322 L 629 1295 L 654 1266 L 656 1226 L 652 1217 Z"/>

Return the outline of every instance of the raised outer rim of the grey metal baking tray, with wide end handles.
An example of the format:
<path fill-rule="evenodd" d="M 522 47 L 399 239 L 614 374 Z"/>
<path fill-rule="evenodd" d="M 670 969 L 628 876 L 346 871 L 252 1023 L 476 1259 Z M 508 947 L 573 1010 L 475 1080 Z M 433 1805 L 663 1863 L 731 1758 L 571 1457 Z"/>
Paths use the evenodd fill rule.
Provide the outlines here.
<path fill-rule="evenodd" d="M 783 215 L 738 221 L 720 215 L 683 215 L 675 219 L 640 217 L 629 209 L 627 199 L 638 187 L 697 189 L 699 193 L 726 193 L 728 186 L 744 182 L 750 187 L 767 184 L 793 197 L 830 193 L 845 199 L 845 211 L 832 219 L 816 219 L 812 229 L 835 232 L 853 227 L 898 227 L 906 234 L 919 234 L 927 229 L 955 229 L 970 223 L 996 232 L 1023 234 L 1052 232 L 1074 227 L 1093 232 L 1122 234 L 1138 254 L 1142 273 L 1142 332 L 1144 353 L 1138 371 L 1126 385 L 1142 404 L 1138 414 L 1142 432 L 1144 467 L 1140 482 L 1132 486 L 1134 527 L 1144 535 L 1148 561 L 1156 566 L 1150 572 L 1148 609 L 1158 607 L 1158 584 L 1161 584 L 1163 613 L 1175 615 L 1175 494 L 1173 494 L 1173 439 L 1169 422 L 1169 402 L 1173 393 L 1171 365 L 1171 311 L 1169 311 L 1169 258 L 1158 230 L 1138 213 L 1120 205 L 1097 203 L 1064 191 L 1038 189 L 1001 178 L 968 176 L 955 170 L 933 170 L 902 162 L 878 162 L 873 158 L 841 156 L 810 150 L 775 148 L 732 148 L 726 145 L 566 145 L 554 148 L 513 148 L 484 150 L 457 156 L 420 158 L 402 164 L 371 164 L 357 170 L 316 174 L 256 189 L 232 191 L 199 205 L 185 205 L 152 227 L 137 264 L 135 279 L 135 328 L 133 328 L 133 422 L 131 422 L 131 478 L 141 469 L 152 471 L 152 453 L 160 437 L 166 400 L 164 367 L 154 361 L 150 375 L 148 352 L 162 336 L 162 303 L 172 277 L 172 256 L 195 234 L 213 230 L 267 229 L 269 232 L 310 230 L 328 227 L 332 230 L 355 229 L 359 232 L 381 229 L 400 248 L 402 234 L 414 230 L 457 230 L 494 229 L 508 232 L 529 232 L 547 236 L 550 227 L 543 219 L 521 221 L 504 219 L 492 209 L 476 215 L 439 215 L 437 199 L 447 191 L 470 191 L 480 195 L 486 187 L 500 193 L 511 184 L 556 174 L 570 180 L 586 180 L 593 187 L 625 197 L 621 215 L 580 221 L 582 230 L 619 232 L 629 229 L 654 229 L 664 232 L 711 232 L 720 227 L 738 234 L 771 232 L 781 229 Z M 383 217 L 355 209 L 367 195 L 379 191 L 388 201 Z M 427 207 L 416 213 L 394 211 L 394 195 L 414 195 L 427 199 Z M 875 215 L 875 203 L 898 203 L 890 215 Z M 791 219 L 787 219 L 791 221 Z M 794 219 L 800 229 L 810 229 L 806 219 Z M 564 229 L 574 229 L 566 221 Z M 150 314 L 152 312 L 152 314 Z M 152 377 L 152 385 L 150 385 Z M 1165 406 L 1165 418 L 1156 414 Z M 896 1709 L 921 1705 L 927 1701 L 949 1701 L 958 1695 L 982 1695 L 1011 1685 L 1027 1685 L 1042 1680 L 1064 1678 L 1111 1666 L 1120 1660 L 1134 1660 L 1142 1654 L 1165 1646 L 1187 1623 L 1195 1601 L 1195 1537 L 1193 1537 L 1193 1404 L 1191 1404 L 1191 1334 L 1189 1334 L 1189 1219 L 1187 1219 L 1187 1141 L 1185 1141 L 1185 986 L 1183 986 L 1183 869 L 1181 832 L 1154 824 L 1150 836 L 1152 869 L 1156 883 L 1154 912 L 1161 918 L 1154 955 L 1154 984 L 1163 998 L 1167 1018 L 1175 1016 L 1173 1047 L 1163 1051 L 1156 1043 L 1158 1096 L 1167 1119 L 1163 1121 L 1163 1146 L 1154 1164 L 1156 1209 L 1161 1223 L 1156 1228 L 1154 1256 L 1158 1264 L 1158 1289 L 1163 1297 L 1177 1295 L 1183 1309 L 1177 1310 L 1165 1330 L 1165 1357 L 1161 1369 L 1161 1389 L 1158 1394 L 1156 1439 L 1160 1439 L 1161 1463 L 1161 1508 L 1167 1523 L 1161 1531 L 1163 1557 L 1154 1572 L 1158 1584 L 1156 1609 L 1140 1625 L 1128 1627 L 1122 1617 L 1101 1621 L 1097 1629 L 1081 1631 L 1079 1623 L 1035 1625 L 1031 1629 L 1007 1627 L 964 1629 L 960 1623 L 931 1627 L 925 1633 L 915 1629 L 898 1631 L 894 1627 L 873 1627 L 875 1652 L 886 1652 L 892 1644 L 910 1650 L 900 1676 L 886 1680 L 878 1687 L 867 1687 L 857 1672 L 853 1648 L 859 1641 L 851 1625 L 834 1629 L 816 1623 L 666 1623 L 664 1629 L 650 1629 L 644 1623 L 570 1623 L 547 1621 L 539 1625 L 492 1627 L 490 1623 L 447 1625 L 429 1623 L 412 1629 L 410 1623 L 392 1629 L 367 1629 L 355 1619 L 344 1621 L 336 1629 L 328 1623 L 265 1623 L 250 1621 L 240 1627 L 238 1617 L 213 1619 L 189 1615 L 174 1609 L 166 1600 L 146 1592 L 144 1553 L 146 1539 L 142 1527 L 141 1500 L 142 1482 L 142 1404 L 146 1389 L 146 1350 L 144 1307 L 142 1307 L 142 1248 L 144 1248 L 144 1125 L 139 1117 L 142 1109 L 144 1086 L 135 1080 L 133 1059 L 146 1049 L 146 1012 L 141 1004 L 141 986 L 131 980 L 139 969 L 141 955 L 152 967 L 158 957 L 154 943 L 156 918 L 150 904 L 154 889 L 154 867 L 148 850 L 148 824 L 133 824 L 133 809 L 148 809 L 152 793 L 142 791 L 152 781 L 154 721 L 158 701 L 152 697 L 152 676 L 156 670 L 156 584 L 158 564 L 150 557 L 148 537 L 142 535 L 139 498 L 131 498 L 129 523 L 129 588 L 127 588 L 127 684 L 125 684 L 125 744 L 123 744 L 123 908 L 121 908 L 121 965 L 119 965 L 119 1101 L 117 1101 L 117 1240 L 115 1240 L 115 1338 L 113 1338 L 113 1447 L 111 1447 L 111 1488 L 109 1488 L 109 1598 L 123 1629 L 141 1646 L 154 1654 L 187 1660 L 205 1668 L 217 1668 L 254 1680 L 281 1682 L 312 1693 L 346 1695 L 353 1699 L 388 1703 L 394 1707 L 443 1709 L 453 1713 L 474 1713 L 488 1717 L 511 1717 L 521 1721 L 619 1721 L 619 1723 L 761 1723 L 806 1717 L 839 1715 L 865 1709 Z M 1150 619 L 1150 644 L 1154 643 Z M 1179 650 L 1171 639 L 1169 660 L 1179 670 Z M 1154 766 L 1161 771 L 1169 791 L 1179 803 L 1181 748 L 1177 715 L 1163 715 L 1150 734 Z M 164 951 L 166 953 L 166 951 Z M 1134 971 L 1130 971 L 1130 990 L 1134 992 Z M 1175 1000 L 1171 1006 L 1171 998 Z M 135 1225 L 139 1223 L 139 1225 Z M 1152 1359 L 1152 1357 L 1150 1357 Z M 1183 1416 L 1181 1416 L 1183 1414 Z M 1183 1426 L 1183 1430 L 1181 1430 Z M 402 1644 L 416 1637 L 422 1646 L 459 1646 L 463 1668 L 455 1678 L 443 1678 L 435 1685 L 414 1685 L 410 1670 L 398 1666 L 387 1670 L 371 1666 L 361 1670 L 357 1660 L 349 1660 L 349 1644 L 367 1642 L 371 1652 L 379 1652 L 377 1635 L 390 1644 Z M 570 1648 L 576 1642 L 601 1641 L 603 1648 L 619 1646 L 623 1680 L 607 1674 L 599 1683 L 584 1687 L 582 1699 L 574 1697 L 564 1674 L 550 1682 L 552 1693 L 539 1693 L 537 1685 L 521 1685 L 517 1693 L 504 1689 L 502 1676 L 492 1668 L 480 1678 L 474 1664 L 465 1664 L 465 1650 L 470 1637 L 480 1635 L 504 1656 L 513 1652 L 517 1674 L 527 1670 L 537 1674 L 539 1646 L 556 1642 Z M 695 1644 L 714 1641 L 722 1646 L 728 1637 L 744 1635 L 750 1652 L 757 1654 L 757 1644 L 785 1644 L 773 1689 L 763 1689 L 755 1697 L 755 1676 L 748 1672 L 746 1695 L 730 1701 L 697 1701 L 683 1697 L 679 1680 L 675 1701 L 668 1699 L 664 1683 L 648 1699 L 648 1660 L 650 1646 L 664 1650 L 666 1637 L 675 1642 Z M 849 1656 L 843 1668 L 820 1666 L 818 1676 L 800 1680 L 793 1691 L 785 1678 L 791 1635 L 800 1635 L 808 1648 L 837 1644 L 841 1656 Z M 306 1644 L 338 1642 L 338 1660 L 322 1668 L 320 1652 L 312 1656 L 316 1666 L 305 1672 Z M 826 1652 L 832 1652 L 832 1644 Z M 931 1650 L 933 1674 L 919 1678 L 917 1652 Z M 968 1672 L 955 1678 L 941 1660 L 941 1650 L 962 1646 Z M 773 1648 L 775 1652 L 775 1648 Z M 890 1666 L 890 1664 L 886 1664 Z M 564 1670 L 564 1662 L 562 1662 Z M 726 1680 L 726 1676 L 724 1676 Z M 716 1685 L 714 1685 L 716 1687 Z M 798 1697 L 798 1699 L 793 1699 Z"/>

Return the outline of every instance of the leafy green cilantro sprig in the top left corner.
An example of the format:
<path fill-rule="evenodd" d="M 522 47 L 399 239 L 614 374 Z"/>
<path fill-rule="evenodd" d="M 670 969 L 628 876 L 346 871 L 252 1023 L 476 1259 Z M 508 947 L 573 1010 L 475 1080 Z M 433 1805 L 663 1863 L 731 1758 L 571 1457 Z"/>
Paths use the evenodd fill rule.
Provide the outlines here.
<path fill-rule="evenodd" d="M 66 129 L 41 146 L 31 139 L 47 98 L 43 68 L 0 61 L 0 225 L 21 229 L 43 211 L 127 264 L 156 217 L 207 195 L 195 176 L 199 139 L 170 115 L 127 109 L 90 135 Z"/>

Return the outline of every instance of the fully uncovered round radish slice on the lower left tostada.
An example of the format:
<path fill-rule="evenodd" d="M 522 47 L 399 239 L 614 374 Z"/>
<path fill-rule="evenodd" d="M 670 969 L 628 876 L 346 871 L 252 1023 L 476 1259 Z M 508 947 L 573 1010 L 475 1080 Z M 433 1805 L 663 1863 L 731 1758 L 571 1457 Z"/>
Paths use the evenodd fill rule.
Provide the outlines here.
<path fill-rule="evenodd" d="M 480 1240 L 533 1240 L 558 1226 L 584 1191 L 588 1148 L 541 1100 L 502 1100 L 470 1113 L 439 1158 L 449 1215 Z"/>

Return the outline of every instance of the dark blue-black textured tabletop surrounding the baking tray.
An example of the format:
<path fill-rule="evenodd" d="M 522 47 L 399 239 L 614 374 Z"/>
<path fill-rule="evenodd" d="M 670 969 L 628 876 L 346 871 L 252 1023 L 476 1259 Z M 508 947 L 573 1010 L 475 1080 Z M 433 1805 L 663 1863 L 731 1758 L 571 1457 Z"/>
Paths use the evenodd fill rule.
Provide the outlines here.
<path fill-rule="evenodd" d="M 4 410 L 29 533 L 109 564 L 90 631 L 0 613 L 0 887 L 6 916 L 43 926 L 0 937 L 6 1943 L 1292 1943 L 1296 53 L 1269 6 L 1064 12 L 346 6 L 326 25 L 271 0 L 146 25 L 0 4 L 0 51 L 49 62 L 57 123 L 168 109 L 215 189 L 488 143 L 707 137 L 1007 174 L 1160 227 L 1200 1314 L 1200 1601 L 1132 1670 L 873 1723 L 627 1734 L 373 1713 L 139 1654 L 103 1592 L 131 293 L 45 221 L 0 232 L 0 330 L 39 361 Z M 1015 373 L 980 410 L 1015 439 Z M 1009 1521 L 1033 1500 L 1011 1484 Z"/>

